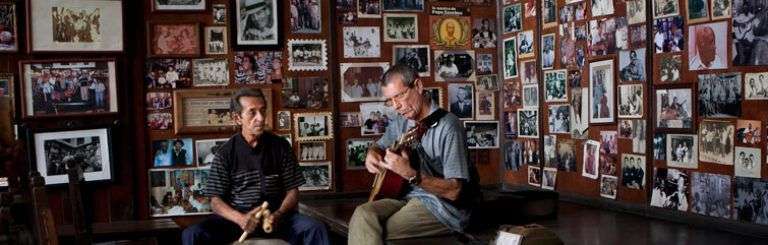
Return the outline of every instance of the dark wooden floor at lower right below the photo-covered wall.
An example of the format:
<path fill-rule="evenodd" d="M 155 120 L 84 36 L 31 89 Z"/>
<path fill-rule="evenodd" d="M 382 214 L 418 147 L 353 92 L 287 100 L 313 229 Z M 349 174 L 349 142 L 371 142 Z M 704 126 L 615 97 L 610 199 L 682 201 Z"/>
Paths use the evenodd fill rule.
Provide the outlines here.
<path fill-rule="evenodd" d="M 565 244 L 768 244 L 768 239 L 560 202 L 557 220 L 538 221 Z M 768 229 L 768 227 L 766 227 Z"/>

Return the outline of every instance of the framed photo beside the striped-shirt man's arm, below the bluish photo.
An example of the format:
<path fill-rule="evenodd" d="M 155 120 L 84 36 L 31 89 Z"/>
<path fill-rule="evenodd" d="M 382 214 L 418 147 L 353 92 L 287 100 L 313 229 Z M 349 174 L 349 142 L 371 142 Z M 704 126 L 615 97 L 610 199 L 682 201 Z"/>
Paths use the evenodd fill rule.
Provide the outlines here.
<path fill-rule="evenodd" d="M 149 210 L 151 217 L 208 215 L 210 198 L 203 195 L 210 168 L 150 169 Z M 181 189 L 180 186 L 187 188 Z M 184 194 L 186 193 L 186 194 Z M 185 195 L 189 197 L 184 198 Z"/>

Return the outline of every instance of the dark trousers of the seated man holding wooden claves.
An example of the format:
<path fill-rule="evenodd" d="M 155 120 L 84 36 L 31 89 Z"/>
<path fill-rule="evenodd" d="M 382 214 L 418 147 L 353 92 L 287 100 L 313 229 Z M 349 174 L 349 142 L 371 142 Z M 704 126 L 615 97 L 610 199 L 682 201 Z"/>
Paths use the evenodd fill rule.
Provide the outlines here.
<path fill-rule="evenodd" d="M 328 231 L 326 231 L 325 226 L 310 217 L 299 213 L 285 214 L 278 222 L 279 224 L 272 234 L 264 234 L 261 226 L 259 226 L 251 237 L 279 238 L 292 245 L 329 244 Z M 214 214 L 202 222 L 184 229 L 181 240 L 182 244 L 185 245 L 229 244 L 240 238 L 242 233 L 243 230 L 240 229 L 240 226 Z"/>

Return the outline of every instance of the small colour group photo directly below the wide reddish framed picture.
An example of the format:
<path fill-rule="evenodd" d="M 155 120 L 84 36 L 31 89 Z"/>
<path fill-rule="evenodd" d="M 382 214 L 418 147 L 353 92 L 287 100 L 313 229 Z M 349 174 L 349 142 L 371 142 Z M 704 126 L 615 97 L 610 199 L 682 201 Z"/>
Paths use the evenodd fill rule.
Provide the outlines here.
<path fill-rule="evenodd" d="M 145 72 L 144 84 L 148 89 L 192 86 L 192 61 L 189 59 L 149 59 Z"/>

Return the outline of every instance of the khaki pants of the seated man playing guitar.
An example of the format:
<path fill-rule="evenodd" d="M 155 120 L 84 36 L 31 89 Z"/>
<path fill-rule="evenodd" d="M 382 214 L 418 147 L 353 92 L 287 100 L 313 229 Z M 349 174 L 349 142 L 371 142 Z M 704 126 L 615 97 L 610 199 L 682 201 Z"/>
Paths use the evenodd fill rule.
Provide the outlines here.
<path fill-rule="evenodd" d="M 450 234 L 420 200 L 382 199 L 355 209 L 349 221 L 348 244 L 384 244 L 384 239 Z"/>

